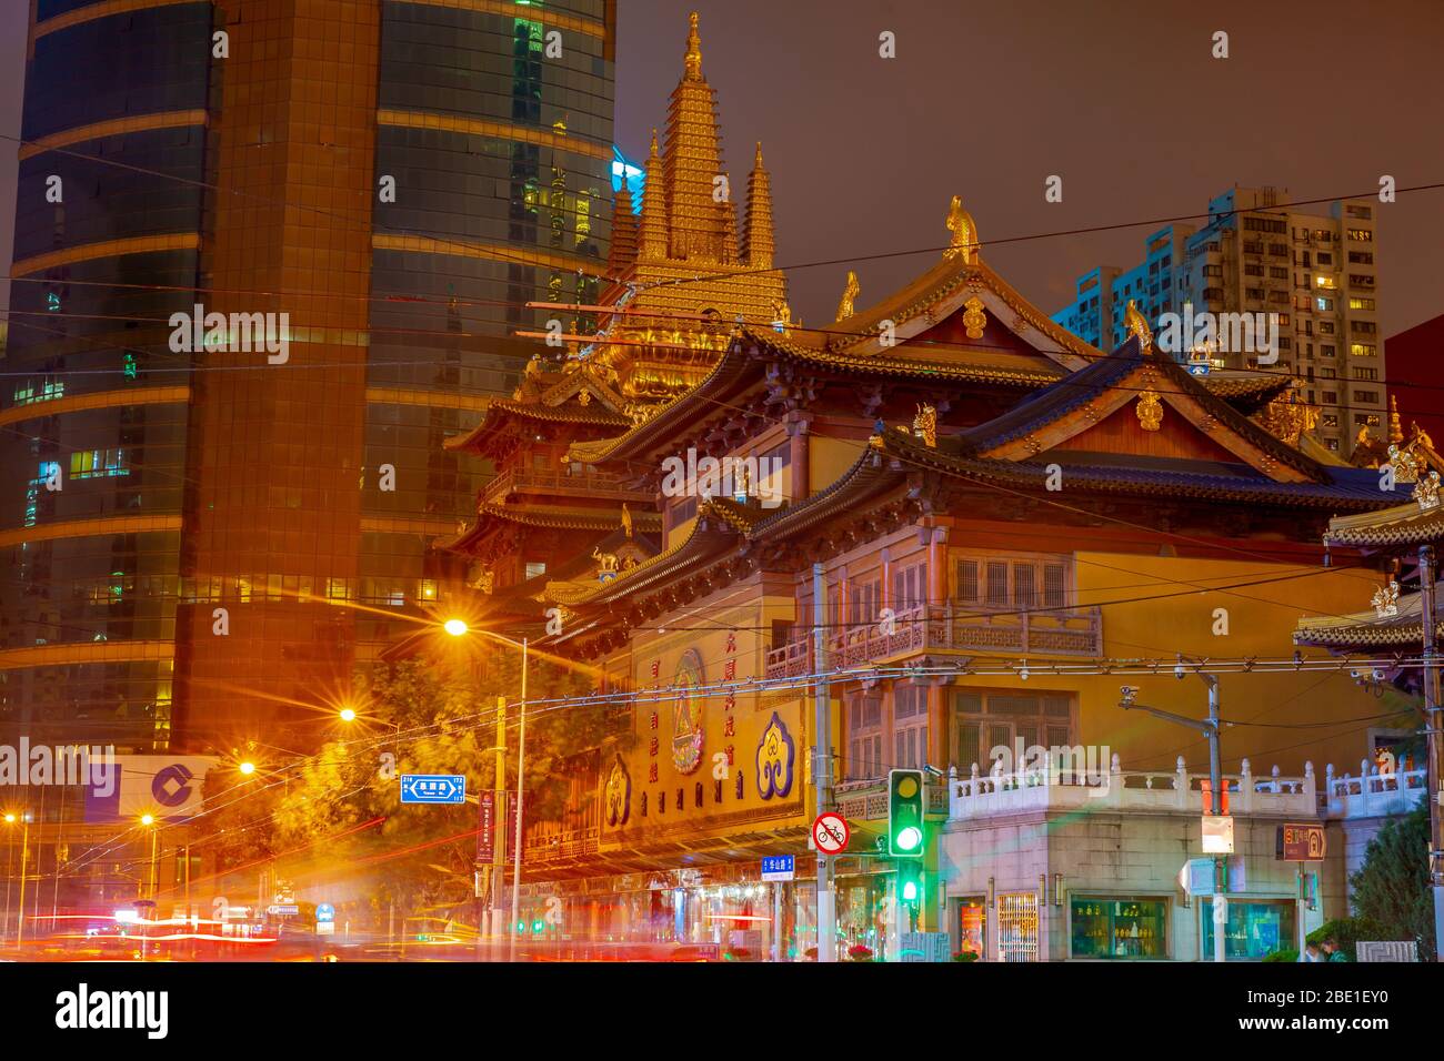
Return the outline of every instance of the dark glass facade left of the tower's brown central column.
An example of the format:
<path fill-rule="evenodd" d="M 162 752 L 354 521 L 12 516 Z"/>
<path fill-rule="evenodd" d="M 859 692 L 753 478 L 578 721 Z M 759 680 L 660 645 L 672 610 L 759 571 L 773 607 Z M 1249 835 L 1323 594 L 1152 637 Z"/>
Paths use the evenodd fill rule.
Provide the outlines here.
<path fill-rule="evenodd" d="M 183 390 L 157 391 L 189 384 L 166 322 L 196 300 L 209 35 L 211 6 L 189 3 L 35 40 L 23 136 L 65 150 L 26 147 L 19 170 L 17 375 L 0 388 L 3 738 L 170 739 L 189 410 Z M 114 124 L 157 114 L 166 127 Z M 10 665 L 27 650 L 48 665 Z"/>

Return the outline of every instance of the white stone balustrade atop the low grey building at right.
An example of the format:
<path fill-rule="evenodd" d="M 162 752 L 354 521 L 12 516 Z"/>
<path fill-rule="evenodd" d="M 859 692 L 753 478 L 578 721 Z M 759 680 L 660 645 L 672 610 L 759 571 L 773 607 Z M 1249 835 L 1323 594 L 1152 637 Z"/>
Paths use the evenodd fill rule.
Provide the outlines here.
<path fill-rule="evenodd" d="M 1304 764 L 1302 777 L 1281 775 L 1278 767 L 1259 777 L 1243 759 L 1242 772 L 1223 774 L 1222 780 L 1229 814 L 1337 820 L 1409 811 L 1428 791 L 1425 774 L 1424 769 L 1375 771 L 1350 778 L 1336 777 L 1330 765 L 1320 785 L 1313 762 Z M 995 764 L 991 772 L 979 774 L 973 764 L 967 777 L 956 767 L 949 771 L 947 816 L 967 821 L 1048 810 L 1201 814 L 1207 784 L 1207 771 L 1187 769 L 1183 758 L 1173 771 L 1125 771 L 1118 755 L 1106 765 L 1054 759 L 1051 767 L 1014 772 Z"/>

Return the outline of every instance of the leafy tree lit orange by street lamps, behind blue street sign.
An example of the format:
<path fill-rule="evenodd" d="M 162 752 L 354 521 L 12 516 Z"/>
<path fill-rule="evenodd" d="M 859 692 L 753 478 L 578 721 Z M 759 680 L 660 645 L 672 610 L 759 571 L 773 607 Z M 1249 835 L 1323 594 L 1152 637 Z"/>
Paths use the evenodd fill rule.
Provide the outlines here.
<path fill-rule="evenodd" d="M 529 671 L 526 824 L 556 818 L 570 790 L 567 768 L 608 733 L 608 707 L 576 703 L 588 674 L 531 655 Z M 517 652 L 488 655 L 482 667 L 438 660 L 383 663 L 360 671 L 354 730 L 286 769 L 254 798 L 218 811 L 214 827 L 224 865 L 284 859 L 287 878 L 354 870 L 377 920 L 406 911 L 455 908 L 472 898 L 478 816 L 461 807 L 401 805 L 401 774 L 462 774 L 466 791 L 494 787 L 495 702 L 507 710 L 507 775 L 516 788 Z M 260 820 L 261 829 L 241 830 Z"/>

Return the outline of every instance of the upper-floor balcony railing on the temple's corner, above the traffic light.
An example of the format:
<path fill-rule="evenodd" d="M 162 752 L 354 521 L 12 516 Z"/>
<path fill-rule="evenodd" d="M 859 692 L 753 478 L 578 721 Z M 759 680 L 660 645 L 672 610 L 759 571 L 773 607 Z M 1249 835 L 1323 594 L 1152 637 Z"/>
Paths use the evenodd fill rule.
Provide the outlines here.
<path fill-rule="evenodd" d="M 1099 608 L 1037 611 L 910 608 L 890 624 L 843 626 L 827 637 L 832 670 L 905 658 L 934 651 L 999 651 L 1019 655 L 1103 654 L 1103 614 Z M 812 638 L 803 637 L 767 654 L 768 678 L 813 673 Z"/>

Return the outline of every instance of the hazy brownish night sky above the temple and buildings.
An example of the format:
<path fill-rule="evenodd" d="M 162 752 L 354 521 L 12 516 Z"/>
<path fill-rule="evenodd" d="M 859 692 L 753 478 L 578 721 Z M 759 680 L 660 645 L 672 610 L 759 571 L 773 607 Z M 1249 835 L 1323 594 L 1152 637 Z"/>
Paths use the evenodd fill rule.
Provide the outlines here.
<path fill-rule="evenodd" d="M 940 247 L 957 193 L 988 261 L 1053 313 L 1079 273 L 1136 264 L 1154 227 L 1206 211 L 1232 183 L 1300 201 L 1373 193 L 1380 173 L 1401 188 L 1444 182 L 1440 0 L 621 0 L 617 139 L 630 157 L 645 157 L 666 121 L 693 6 L 735 188 L 762 140 L 781 266 Z M 0 130 L 12 136 L 27 7 L 0 3 Z M 885 29 L 895 59 L 878 58 Z M 1210 53 L 1220 29 L 1229 59 Z M 0 141 L 6 264 L 14 165 L 16 144 Z M 1043 198 L 1054 173 L 1061 204 Z M 1134 221 L 1149 224 L 989 245 Z M 1444 189 L 1380 211 L 1383 335 L 1444 310 L 1441 250 Z M 859 309 L 936 254 L 852 263 Z M 848 268 L 791 268 L 794 318 L 830 320 Z"/>

